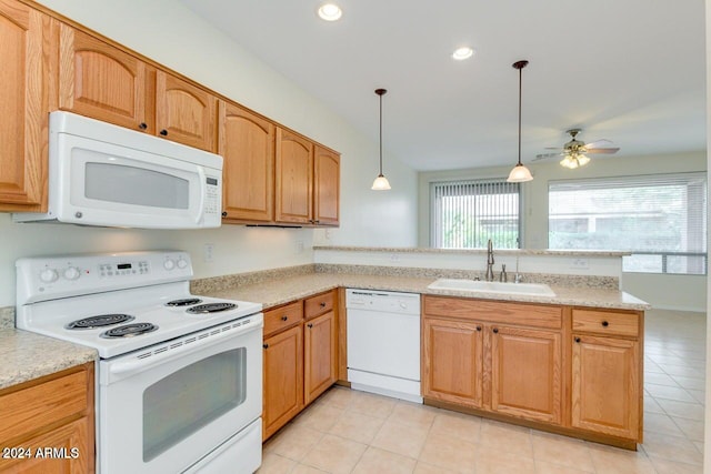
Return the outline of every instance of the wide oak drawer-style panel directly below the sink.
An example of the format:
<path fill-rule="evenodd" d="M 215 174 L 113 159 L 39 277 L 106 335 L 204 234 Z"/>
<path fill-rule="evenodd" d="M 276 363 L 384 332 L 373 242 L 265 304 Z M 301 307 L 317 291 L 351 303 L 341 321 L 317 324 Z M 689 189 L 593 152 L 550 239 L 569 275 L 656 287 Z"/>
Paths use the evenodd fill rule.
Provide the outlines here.
<path fill-rule="evenodd" d="M 424 314 L 531 327 L 559 329 L 562 326 L 560 307 L 538 304 L 425 296 Z"/>

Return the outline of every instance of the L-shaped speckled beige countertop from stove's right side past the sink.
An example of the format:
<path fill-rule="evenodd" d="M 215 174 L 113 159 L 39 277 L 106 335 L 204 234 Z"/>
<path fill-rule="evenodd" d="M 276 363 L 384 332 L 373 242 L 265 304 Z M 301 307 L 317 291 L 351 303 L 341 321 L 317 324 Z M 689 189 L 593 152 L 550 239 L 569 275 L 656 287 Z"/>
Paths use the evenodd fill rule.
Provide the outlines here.
<path fill-rule="evenodd" d="M 364 275 L 348 273 L 311 273 L 291 275 L 278 280 L 267 280 L 258 283 L 216 290 L 211 290 L 209 288 L 209 282 L 203 281 L 201 282 L 201 292 L 199 294 L 204 294 L 206 296 L 224 297 L 229 300 L 253 301 L 257 303 L 262 303 L 264 305 L 264 309 L 289 303 L 291 301 L 328 291 L 338 286 L 573 306 L 594 306 L 642 311 L 649 310 L 651 307 L 648 303 L 632 296 L 631 294 L 611 289 L 567 288 L 551 285 L 551 289 L 555 293 L 555 296 L 549 297 L 520 294 L 441 291 L 428 289 L 427 286 L 434 280 L 435 279 L 432 278 Z"/>

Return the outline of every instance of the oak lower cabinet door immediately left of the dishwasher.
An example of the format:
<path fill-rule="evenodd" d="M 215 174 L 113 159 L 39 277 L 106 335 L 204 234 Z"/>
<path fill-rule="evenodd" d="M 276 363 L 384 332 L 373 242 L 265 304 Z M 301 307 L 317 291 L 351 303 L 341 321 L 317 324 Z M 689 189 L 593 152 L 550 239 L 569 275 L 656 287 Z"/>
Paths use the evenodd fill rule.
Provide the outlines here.
<path fill-rule="evenodd" d="M 329 311 L 307 321 L 303 333 L 304 403 L 308 405 L 338 377 L 338 329 L 336 313 Z"/>

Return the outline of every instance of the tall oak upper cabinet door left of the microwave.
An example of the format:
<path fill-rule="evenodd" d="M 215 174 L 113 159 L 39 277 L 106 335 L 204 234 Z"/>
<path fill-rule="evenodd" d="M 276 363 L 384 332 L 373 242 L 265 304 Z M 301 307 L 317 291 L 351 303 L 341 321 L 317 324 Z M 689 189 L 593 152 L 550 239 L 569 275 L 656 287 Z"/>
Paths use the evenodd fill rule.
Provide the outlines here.
<path fill-rule="evenodd" d="M 47 211 L 49 17 L 0 1 L 0 211 Z"/>

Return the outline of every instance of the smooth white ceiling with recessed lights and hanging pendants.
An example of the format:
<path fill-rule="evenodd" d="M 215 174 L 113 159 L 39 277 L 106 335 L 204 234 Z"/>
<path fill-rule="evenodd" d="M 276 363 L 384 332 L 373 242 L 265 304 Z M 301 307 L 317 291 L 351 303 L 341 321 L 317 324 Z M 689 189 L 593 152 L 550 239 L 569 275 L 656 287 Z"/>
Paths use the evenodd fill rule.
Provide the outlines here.
<path fill-rule="evenodd" d="M 703 0 L 181 1 L 375 140 L 388 89 L 383 148 L 417 170 L 515 162 L 522 59 L 524 163 L 571 128 L 608 159 L 705 150 Z"/>

